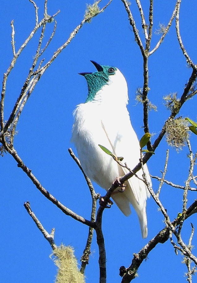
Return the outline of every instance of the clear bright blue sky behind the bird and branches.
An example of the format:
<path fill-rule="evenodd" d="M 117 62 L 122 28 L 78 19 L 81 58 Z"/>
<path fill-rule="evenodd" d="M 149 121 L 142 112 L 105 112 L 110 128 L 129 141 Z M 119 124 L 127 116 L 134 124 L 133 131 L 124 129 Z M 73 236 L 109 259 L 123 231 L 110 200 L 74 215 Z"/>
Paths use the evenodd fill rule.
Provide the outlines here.
<path fill-rule="evenodd" d="M 144 2 L 144 1 L 142 1 Z M 148 2 L 148 1 L 147 1 Z M 43 13 L 44 1 L 38 0 L 40 19 Z M 54 51 L 67 40 L 72 30 L 83 19 L 87 1 L 48 1 L 48 13 L 61 12 L 56 17 L 57 32 L 43 58 L 48 60 Z M 92 3 L 92 2 L 91 2 Z M 105 4 L 104 2 L 103 4 Z M 159 23 L 167 24 L 172 14 L 175 1 L 156 1 L 154 7 L 154 28 Z M 101 2 L 101 7 L 102 7 Z M 146 3 L 143 5 L 146 5 Z M 147 6 L 144 11 L 147 16 Z M 135 1 L 131 1 L 140 36 L 143 38 L 141 21 Z M 28 0 L 1 1 L 0 50 L 1 80 L 12 58 L 11 26 L 14 19 L 16 50 L 32 31 L 35 23 L 34 8 Z M 183 1 L 180 13 L 180 28 L 183 43 L 197 63 L 197 3 Z M 53 29 L 53 24 L 47 26 L 45 42 Z M 7 82 L 5 100 L 5 119 L 8 119 L 13 104 L 24 83 L 28 68 L 35 55 L 40 32 L 30 42 L 23 54 L 17 60 L 15 69 Z M 159 40 L 153 35 L 152 48 Z M 144 39 L 143 39 L 144 42 Z M 140 138 L 143 135 L 142 105 L 135 101 L 136 89 L 143 86 L 143 61 L 137 46 L 128 17 L 122 2 L 113 0 L 104 13 L 94 18 L 91 24 L 85 24 L 77 36 L 58 56 L 55 62 L 42 76 L 36 85 L 32 96 L 26 104 L 20 117 L 15 136 L 15 148 L 24 163 L 32 170 L 41 184 L 65 206 L 89 219 L 91 212 L 91 197 L 86 182 L 67 149 L 70 143 L 72 128 L 72 112 L 75 105 L 85 101 L 87 84 L 79 72 L 95 71 L 90 63 L 94 60 L 103 65 L 117 66 L 126 77 L 130 103 L 128 106 L 133 127 Z M 159 134 L 162 125 L 169 116 L 164 106 L 163 96 L 170 92 L 182 94 L 189 79 L 191 69 L 186 66 L 186 60 L 176 39 L 173 22 L 169 34 L 161 47 L 149 60 L 150 101 L 157 105 L 158 111 L 149 115 L 152 141 Z M 180 115 L 197 120 L 196 98 L 194 97 L 181 109 Z M 196 136 L 191 136 L 194 152 L 197 149 Z M 165 142 L 156 150 L 149 160 L 148 168 L 152 175 L 161 176 L 165 162 L 165 152 L 169 148 L 169 166 L 166 178 L 169 181 L 184 185 L 187 178 L 189 159 L 185 147 L 179 153 Z M 73 148 L 75 150 L 75 148 Z M 75 249 L 77 259 L 80 259 L 88 235 L 88 227 L 74 221 L 58 210 L 36 189 L 24 172 L 17 167 L 11 156 L 6 154 L 0 158 L 1 176 L 1 282 L 41 283 L 54 282 L 56 267 L 49 258 L 51 247 L 24 209 L 24 202 L 30 201 L 31 208 L 45 229 L 50 232 L 55 227 L 55 242 L 71 245 Z M 153 189 L 158 182 L 153 180 Z M 105 193 L 95 185 L 96 192 Z M 182 209 L 182 191 L 164 186 L 161 201 L 171 220 Z M 188 206 L 196 199 L 196 192 L 189 192 Z M 114 204 L 106 209 L 103 215 L 103 233 L 107 252 L 108 282 L 121 282 L 119 267 L 131 264 L 133 253 L 137 253 L 165 224 L 163 216 L 158 211 L 152 199 L 147 204 L 148 238 L 142 239 L 139 223 L 134 209 L 132 215 L 125 217 Z M 185 222 L 183 239 L 188 241 L 190 222 L 197 228 L 196 215 Z M 193 245 L 197 245 L 196 232 Z M 98 248 L 94 235 L 92 255 L 86 268 L 86 282 L 98 282 Z M 182 256 L 175 255 L 170 242 L 158 245 L 144 261 L 138 270 L 139 277 L 135 282 L 185 282 L 186 266 L 181 264 Z M 170 279 L 167 279 L 170 278 Z"/>

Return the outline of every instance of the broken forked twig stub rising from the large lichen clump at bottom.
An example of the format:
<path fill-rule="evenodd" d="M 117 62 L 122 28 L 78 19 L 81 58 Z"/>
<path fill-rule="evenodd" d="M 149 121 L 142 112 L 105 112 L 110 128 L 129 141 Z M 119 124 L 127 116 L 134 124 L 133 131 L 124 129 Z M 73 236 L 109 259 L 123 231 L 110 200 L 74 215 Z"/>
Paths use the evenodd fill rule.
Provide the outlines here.
<path fill-rule="evenodd" d="M 52 249 L 56 249 L 57 246 L 54 242 L 54 233 L 55 233 L 55 228 L 53 228 L 51 230 L 51 233 L 49 234 L 45 228 L 43 227 L 43 225 L 41 224 L 41 222 L 38 220 L 38 218 L 36 217 L 36 215 L 32 212 L 32 209 L 30 208 L 30 203 L 27 201 L 24 203 L 24 207 L 27 210 L 28 214 L 32 217 L 33 221 L 36 223 L 36 226 L 38 227 L 38 229 L 41 231 L 41 233 L 43 234 L 43 236 L 45 237 L 45 239 L 49 242 L 50 246 L 52 247 Z"/>

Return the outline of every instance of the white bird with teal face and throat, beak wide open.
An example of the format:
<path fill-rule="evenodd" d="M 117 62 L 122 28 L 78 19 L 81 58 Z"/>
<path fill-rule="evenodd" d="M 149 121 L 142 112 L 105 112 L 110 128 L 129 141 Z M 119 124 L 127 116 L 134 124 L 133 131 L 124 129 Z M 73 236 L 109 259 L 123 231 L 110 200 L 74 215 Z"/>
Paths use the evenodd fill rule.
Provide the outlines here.
<path fill-rule="evenodd" d="M 85 103 L 76 106 L 73 112 L 74 125 L 71 141 L 74 142 L 85 174 L 108 191 L 116 177 L 128 173 L 106 154 L 99 144 L 114 155 L 124 157 L 123 162 L 133 169 L 140 158 L 137 135 L 131 125 L 126 79 L 116 67 L 103 66 L 91 61 L 97 69 L 94 73 L 80 73 L 88 83 Z M 148 182 L 151 184 L 147 165 L 144 165 Z M 137 172 L 142 177 L 142 169 Z M 146 200 L 150 197 L 143 181 L 133 176 L 125 182 L 125 191 L 113 193 L 112 199 L 128 216 L 130 203 L 137 212 L 142 237 L 147 237 Z"/>

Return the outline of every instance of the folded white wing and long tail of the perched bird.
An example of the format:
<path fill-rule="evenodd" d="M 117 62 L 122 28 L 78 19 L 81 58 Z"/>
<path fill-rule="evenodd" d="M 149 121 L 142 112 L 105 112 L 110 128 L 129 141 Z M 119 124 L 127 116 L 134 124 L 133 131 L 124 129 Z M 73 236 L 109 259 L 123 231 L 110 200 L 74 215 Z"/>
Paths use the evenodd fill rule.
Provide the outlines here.
<path fill-rule="evenodd" d="M 139 163 L 140 148 L 137 135 L 131 126 L 131 121 L 126 106 L 125 109 L 120 112 L 118 111 L 118 113 L 114 116 L 112 117 L 113 121 L 111 121 L 109 116 L 108 118 L 102 118 L 103 129 L 105 130 L 105 133 L 109 139 L 109 143 L 113 148 L 114 154 L 118 157 L 124 157 L 122 162 L 126 162 L 127 166 L 130 169 L 133 169 Z M 105 144 L 103 145 L 105 146 Z M 144 165 L 144 169 L 146 171 L 148 181 L 151 183 L 146 165 Z M 128 173 L 126 168 L 119 167 L 120 176 L 126 173 Z M 143 179 L 142 174 L 142 169 L 137 172 L 137 175 Z M 126 182 L 125 192 L 118 193 L 117 195 L 113 196 L 113 199 L 117 204 L 118 198 L 123 194 L 131 202 L 138 214 L 143 238 L 147 237 L 146 200 L 150 194 L 146 185 L 143 181 L 133 176 Z M 124 213 L 124 208 L 122 207 L 123 205 L 124 202 L 120 202 L 118 207 Z"/>

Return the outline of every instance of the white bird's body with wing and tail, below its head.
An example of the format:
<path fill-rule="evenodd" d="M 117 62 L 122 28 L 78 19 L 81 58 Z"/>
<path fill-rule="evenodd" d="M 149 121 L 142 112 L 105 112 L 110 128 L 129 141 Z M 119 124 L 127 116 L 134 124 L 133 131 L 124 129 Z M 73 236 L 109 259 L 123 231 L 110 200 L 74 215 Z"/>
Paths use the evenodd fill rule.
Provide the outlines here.
<path fill-rule="evenodd" d="M 78 105 L 74 112 L 72 134 L 72 141 L 85 173 L 106 190 L 116 177 L 123 176 L 128 171 L 103 152 L 98 144 L 105 146 L 116 156 L 124 157 L 123 162 L 126 162 L 130 169 L 139 163 L 140 157 L 139 141 L 131 126 L 126 105 L 119 107 L 117 111 L 109 107 L 102 108 L 88 102 Z M 146 165 L 145 169 L 149 178 Z M 142 178 L 142 171 L 137 174 Z M 135 176 L 126 182 L 124 192 L 115 192 L 112 196 L 126 216 L 131 213 L 129 204 L 133 205 L 139 217 L 143 238 L 147 237 L 147 196 L 149 193 L 145 184 Z"/>

